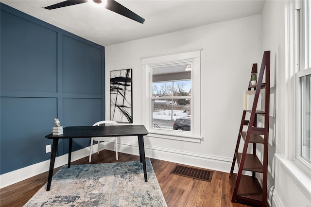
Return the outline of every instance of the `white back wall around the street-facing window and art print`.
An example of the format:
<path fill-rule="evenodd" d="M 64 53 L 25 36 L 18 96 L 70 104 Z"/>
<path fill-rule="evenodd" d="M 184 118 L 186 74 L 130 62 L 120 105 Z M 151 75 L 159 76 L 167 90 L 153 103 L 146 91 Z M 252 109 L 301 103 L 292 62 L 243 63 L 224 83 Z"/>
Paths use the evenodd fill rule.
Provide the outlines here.
<path fill-rule="evenodd" d="M 133 119 L 142 123 L 141 57 L 203 49 L 201 143 L 145 138 L 146 156 L 229 172 L 242 118 L 243 91 L 260 63 L 261 16 L 245 17 L 105 47 L 106 105 L 109 71 L 133 69 Z M 126 35 L 126 34 L 124 34 Z M 110 119 L 106 107 L 106 119 Z M 121 151 L 138 155 L 137 138 L 121 138 Z"/>

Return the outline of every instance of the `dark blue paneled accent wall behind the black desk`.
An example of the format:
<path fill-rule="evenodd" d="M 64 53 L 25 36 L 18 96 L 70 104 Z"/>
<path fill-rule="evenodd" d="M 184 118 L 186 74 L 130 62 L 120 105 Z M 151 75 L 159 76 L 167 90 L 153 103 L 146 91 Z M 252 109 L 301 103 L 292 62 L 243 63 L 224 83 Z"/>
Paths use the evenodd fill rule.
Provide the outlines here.
<path fill-rule="evenodd" d="M 64 127 L 104 120 L 104 91 L 103 46 L 0 3 L 0 174 L 50 159 L 54 118 Z M 89 145 L 73 140 L 73 151 Z"/>

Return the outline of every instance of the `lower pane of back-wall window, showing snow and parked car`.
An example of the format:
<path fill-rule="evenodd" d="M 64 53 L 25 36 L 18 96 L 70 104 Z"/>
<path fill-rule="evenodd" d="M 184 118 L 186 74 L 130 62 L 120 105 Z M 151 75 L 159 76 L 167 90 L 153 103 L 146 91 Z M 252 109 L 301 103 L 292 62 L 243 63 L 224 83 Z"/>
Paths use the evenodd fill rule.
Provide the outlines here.
<path fill-rule="evenodd" d="M 190 99 L 152 99 L 153 128 L 190 131 Z"/>

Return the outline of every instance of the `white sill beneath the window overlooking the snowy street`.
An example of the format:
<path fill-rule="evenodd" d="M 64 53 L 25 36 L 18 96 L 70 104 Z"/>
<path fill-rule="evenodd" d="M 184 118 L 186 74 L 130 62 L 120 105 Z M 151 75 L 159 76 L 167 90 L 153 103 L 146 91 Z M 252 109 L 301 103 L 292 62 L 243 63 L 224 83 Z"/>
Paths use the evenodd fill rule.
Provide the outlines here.
<path fill-rule="evenodd" d="M 154 138 L 165 138 L 165 139 L 173 139 L 179 141 L 188 141 L 188 142 L 195 142 L 201 143 L 202 137 L 200 136 L 193 136 L 193 135 L 182 135 L 176 133 L 169 133 L 169 132 L 158 132 L 152 129 L 149 129 L 149 134 L 145 137 L 154 137 Z"/>

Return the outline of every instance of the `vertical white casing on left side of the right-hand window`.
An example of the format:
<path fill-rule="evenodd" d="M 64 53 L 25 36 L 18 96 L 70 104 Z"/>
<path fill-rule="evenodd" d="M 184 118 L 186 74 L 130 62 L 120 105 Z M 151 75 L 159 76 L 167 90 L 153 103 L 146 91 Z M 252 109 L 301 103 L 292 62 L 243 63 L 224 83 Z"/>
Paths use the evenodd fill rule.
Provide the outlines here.
<path fill-rule="evenodd" d="M 285 112 L 285 158 L 297 160 L 299 156 L 299 77 L 308 74 L 308 69 L 300 70 L 300 64 L 305 62 L 300 54 L 305 48 L 300 48 L 299 39 L 304 39 L 300 33 L 303 22 L 297 18 L 302 8 L 301 1 L 289 1 L 286 10 L 286 41 L 285 41 L 285 91 L 284 112 Z M 299 36 L 299 38 L 297 38 Z M 303 40 L 304 41 L 304 40 Z M 295 127 L 292 127 L 295 126 Z M 305 164 L 305 163 L 304 163 Z"/>

